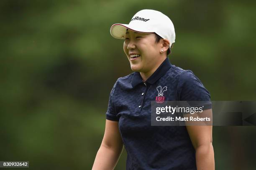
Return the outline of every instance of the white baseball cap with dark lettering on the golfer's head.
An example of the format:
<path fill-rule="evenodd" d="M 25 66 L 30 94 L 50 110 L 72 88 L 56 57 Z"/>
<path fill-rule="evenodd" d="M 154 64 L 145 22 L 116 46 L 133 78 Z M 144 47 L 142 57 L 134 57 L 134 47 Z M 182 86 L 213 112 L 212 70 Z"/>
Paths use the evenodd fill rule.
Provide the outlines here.
<path fill-rule="evenodd" d="M 110 34 L 114 38 L 125 39 L 126 29 L 135 32 L 156 33 L 167 39 L 172 44 L 175 42 L 174 25 L 170 18 L 156 10 L 140 10 L 129 24 L 114 24 L 110 28 Z"/>

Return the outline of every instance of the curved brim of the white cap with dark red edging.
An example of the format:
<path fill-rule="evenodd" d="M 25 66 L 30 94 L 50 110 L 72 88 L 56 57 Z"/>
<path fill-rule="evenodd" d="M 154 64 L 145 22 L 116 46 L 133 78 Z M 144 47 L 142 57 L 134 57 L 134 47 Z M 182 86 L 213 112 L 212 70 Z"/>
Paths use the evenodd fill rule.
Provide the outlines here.
<path fill-rule="evenodd" d="M 141 28 L 136 28 L 135 26 L 131 26 L 128 24 L 114 24 L 110 28 L 110 34 L 114 38 L 125 39 L 126 29 L 129 29 L 135 32 L 154 33 L 154 32 L 148 32 L 147 30 L 142 30 Z"/>

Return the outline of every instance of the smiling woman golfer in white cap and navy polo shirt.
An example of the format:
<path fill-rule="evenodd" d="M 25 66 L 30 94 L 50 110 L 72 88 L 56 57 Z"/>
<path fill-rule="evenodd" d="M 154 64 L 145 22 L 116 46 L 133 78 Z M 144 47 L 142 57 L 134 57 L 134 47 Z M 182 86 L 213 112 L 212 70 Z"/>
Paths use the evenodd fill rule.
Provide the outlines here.
<path fill-rule="evenodd" d="M 169 62 L 172 21 L 159 11 L 141 10 L 129 24 L 112 25 L 110 33 L 124 40 L 133 73 L 118 78 L 110 92 L 92 169 L 113 170 L 125 147 L 127 170 L 214 170 L 212 126 L 151 126 L 151 101 L 210 101 L 192 71 Z"/>

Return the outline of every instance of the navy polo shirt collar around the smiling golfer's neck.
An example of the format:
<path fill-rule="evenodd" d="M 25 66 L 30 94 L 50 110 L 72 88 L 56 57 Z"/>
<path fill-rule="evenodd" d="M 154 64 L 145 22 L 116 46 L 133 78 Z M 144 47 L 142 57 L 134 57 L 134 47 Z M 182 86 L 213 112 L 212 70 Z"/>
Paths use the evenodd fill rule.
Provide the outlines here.
<path fill-rule="evenodd" d="M 146 80 L 149 84 L 154 84 L 156 80 L 162 77 L 170 68 L 172 64 L 170 63 L 168 57 L 161 63 L 161 65 L 156 69 L 156 71 Z M 131 81 L 131 85 L 135 87 L 139 83 L 143 82 L 141 78 L 141 74 L 139 72 L 134 72 L 133 79 Z"/>

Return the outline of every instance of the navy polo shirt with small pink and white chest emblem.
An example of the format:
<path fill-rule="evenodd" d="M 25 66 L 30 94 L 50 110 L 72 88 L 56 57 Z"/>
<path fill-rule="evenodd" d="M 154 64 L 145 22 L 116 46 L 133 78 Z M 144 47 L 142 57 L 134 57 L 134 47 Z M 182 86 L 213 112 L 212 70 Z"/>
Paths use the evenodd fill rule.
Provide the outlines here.
<path fill-rule="evenodd" d="M 210 101 L 210 94 L 190 70 L 166 58 L 143 82 L 139 72 L 120 77 L 110 92 L 106 118 L 118 121 L 127 151 L 127 170 L 196 170 L 195 149 L 186 126 L 151 126 L 151 101 L 165 87 L 165 101 Z"/>

